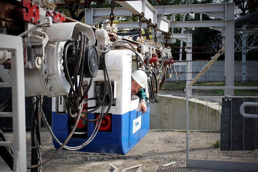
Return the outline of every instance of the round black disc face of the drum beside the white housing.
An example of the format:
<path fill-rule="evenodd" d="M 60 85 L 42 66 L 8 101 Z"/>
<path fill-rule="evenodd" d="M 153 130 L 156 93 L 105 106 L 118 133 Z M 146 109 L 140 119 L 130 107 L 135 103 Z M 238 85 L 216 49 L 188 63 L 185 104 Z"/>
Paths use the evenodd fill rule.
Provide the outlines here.
<path fill-rule="evenodd" d="M 83 74 L 86 78 L 94 78 L 98 73 L 99 61 L 95 45 L 87 44 L 85 49 Z"/>

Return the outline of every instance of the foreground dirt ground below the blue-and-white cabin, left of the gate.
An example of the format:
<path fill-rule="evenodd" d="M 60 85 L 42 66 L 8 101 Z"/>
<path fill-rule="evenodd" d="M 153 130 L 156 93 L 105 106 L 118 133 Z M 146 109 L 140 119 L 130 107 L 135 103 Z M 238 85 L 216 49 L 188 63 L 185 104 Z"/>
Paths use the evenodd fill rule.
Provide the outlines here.
<path fill-rule="evenodd" d="M 62 151 L 50 162 L 42 166 L 42 172 L 108 172 L 114 164 L 124 168 L 143 164 L 143 172 L 155 172 L 158 166 L 176 161 L 176 166 L 186 166 L 186 133 L 173 131 L 150 131 L 126 155 L 96 154 Z M 12 133 L 6 133 L 11 139 Z M 30 132 L 26 132 L 27 165 L 30 163 Z M 48 131 L 41 131 L 43 160 L 52 155 L 55 148 Z M 0 169 L 10 170 L 0 158 Z"/>

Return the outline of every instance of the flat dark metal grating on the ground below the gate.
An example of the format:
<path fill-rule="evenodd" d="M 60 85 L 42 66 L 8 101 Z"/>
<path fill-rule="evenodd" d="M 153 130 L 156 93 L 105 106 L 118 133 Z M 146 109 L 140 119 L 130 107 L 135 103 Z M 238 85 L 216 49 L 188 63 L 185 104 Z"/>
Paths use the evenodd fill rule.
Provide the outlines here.
<path fill-rule="evenodd" d="M 253 172 L 253 171 L 158 166 L 158 169 L 156 172 Z"/>

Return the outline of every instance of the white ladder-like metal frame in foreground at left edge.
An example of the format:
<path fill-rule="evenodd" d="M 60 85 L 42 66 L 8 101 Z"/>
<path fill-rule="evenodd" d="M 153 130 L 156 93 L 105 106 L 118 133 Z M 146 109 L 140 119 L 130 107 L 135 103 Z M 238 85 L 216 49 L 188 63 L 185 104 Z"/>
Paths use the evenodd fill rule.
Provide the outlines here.
<path fill-rule="evenodd" d="M 25 86 L 22 37 L 0 34 L 0 50 L 11 51 L 12 83 L 0 83 L 0 87 L 12 88 L 12 112 L 0 112 L 1 117 L 13 118 L 12 142 L 2 141 L 0 146 L 14 147 L 14 172 L 26 172 L 26 131 L 25 131 Z M 0 172 L 3 170 L 0 170 Z"/>

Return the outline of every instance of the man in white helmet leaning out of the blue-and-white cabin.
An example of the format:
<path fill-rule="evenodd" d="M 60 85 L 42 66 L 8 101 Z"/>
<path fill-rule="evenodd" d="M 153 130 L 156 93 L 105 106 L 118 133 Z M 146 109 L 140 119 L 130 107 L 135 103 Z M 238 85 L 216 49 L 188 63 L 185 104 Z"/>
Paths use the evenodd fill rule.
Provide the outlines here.
<path fill-rule="evenodd" d="M 131 95 L 136 95 L 140 98 L 140 111 L 145 113 L 147 111 L 146 101 L 149 100 L 146 97 L 146 94 L 143 90 L 147 84 L 147 75 L 142 70 L 137 70 L 132 73 L 132 82 L 131 82 Z"/>

